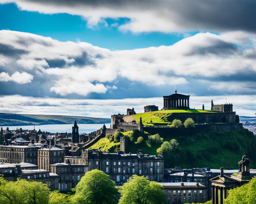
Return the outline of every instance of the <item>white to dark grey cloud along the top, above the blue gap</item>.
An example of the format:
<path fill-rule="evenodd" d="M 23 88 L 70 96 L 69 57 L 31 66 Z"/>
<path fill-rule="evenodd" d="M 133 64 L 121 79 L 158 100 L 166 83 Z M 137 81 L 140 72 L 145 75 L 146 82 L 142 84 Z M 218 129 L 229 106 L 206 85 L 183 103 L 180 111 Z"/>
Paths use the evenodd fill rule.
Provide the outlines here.
<path fill-rule="evenodd" d="M 119 29 L 132 32 L 254 31 L 255 2 L 239 0 L 0 0 L 21 10 L 80 15 L 88 27 L 106 26 L 106 18 L 128 18 Z M 235 22 L 235 23 L 234 23 Z"/>

